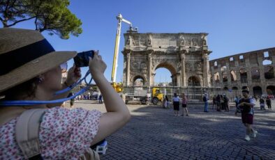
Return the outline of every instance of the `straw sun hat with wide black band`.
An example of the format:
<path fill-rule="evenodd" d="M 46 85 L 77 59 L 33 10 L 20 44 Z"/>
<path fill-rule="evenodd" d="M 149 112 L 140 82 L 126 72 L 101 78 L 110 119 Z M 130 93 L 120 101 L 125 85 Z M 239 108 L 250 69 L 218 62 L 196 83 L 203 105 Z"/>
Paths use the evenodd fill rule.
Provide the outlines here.
<path fill-rule="evenodd" d="M 0 93 L 61 65 L 75 55 L 75 51 L 54 51 L 38 31 L 0 29 Z"/>

